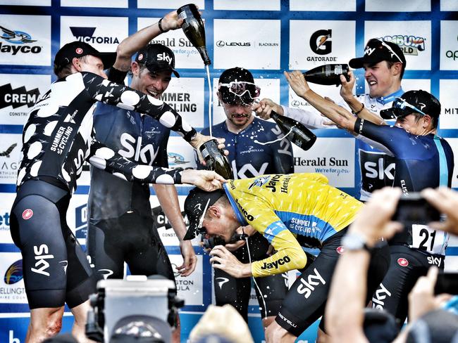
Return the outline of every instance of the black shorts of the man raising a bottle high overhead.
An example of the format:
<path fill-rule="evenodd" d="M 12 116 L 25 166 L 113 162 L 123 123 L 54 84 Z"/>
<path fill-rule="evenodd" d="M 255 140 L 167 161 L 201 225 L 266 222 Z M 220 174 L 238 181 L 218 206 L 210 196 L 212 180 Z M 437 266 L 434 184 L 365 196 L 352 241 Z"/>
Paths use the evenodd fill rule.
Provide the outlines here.
<path fill-rule="evenodd" d="M 136 212 L 119 218 L 89 220 L 87 254 L 97 278 L 123 278 L 124 262 L 132 275 L 165 276 L 175 281 L 173 268 L 152 217 Z"/>

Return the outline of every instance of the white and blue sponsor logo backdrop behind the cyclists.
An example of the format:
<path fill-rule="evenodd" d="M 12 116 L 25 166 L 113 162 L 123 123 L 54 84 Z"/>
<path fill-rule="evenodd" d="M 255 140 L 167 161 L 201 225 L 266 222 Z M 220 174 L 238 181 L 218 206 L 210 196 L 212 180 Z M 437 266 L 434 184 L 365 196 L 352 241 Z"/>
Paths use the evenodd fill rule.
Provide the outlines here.
<path fill-rule="evenodd" d="M 221 72 L 239 66 L 252 70 L 261 86 L 261 97 L 293 108 L 309 108 L 293 95 L 283 70 L 309 70 L 325 63 L 347 63 L 361 56 L 371 37 L 393 41 L 404 51 L 407 71 L 403 88 L 426 89 L 440 98 L 440 135 L 450 138 L 458 151 L 458 2 L 455 0 L 199 0 L 206 41 L 213 61 L 213 122 L 224 113 L 216 98 Z M 27 111 L 51 81 L 52 60 L 58 48 L 79 39 L 101 51 L 114 51 L 128 34 L 151 25 L 184 0 L 0 0 L 0 342 L 24 342 L 27 300 L 22 279 L 22 261 L 9 235 L 9 214 L 15 193 L 20 158 L 21 133 Z M 209 124 L 209 91 L 202 60 L 181 30 L 161 34 L 154 41 L 175 52 L 182 77 L 173 79 L 163 100 L 173 106 L 194 127 Z M 364 93 L 362 70 L 355 92 Z M 338 88 L 313 86 L 318 93 L 338 100 Z M 216 100 L 214 100 L 216 99 Z M 295 170 L 321 172 L 333 186 L 354 195 L 359 180 L 355 168 L 354 138 L 338 129 L 316 130 L 318 141 L 311 150 L 295 149 Z M 171 167 L 194 167 L 194 153 L 178 136 L 168 146 Z M 456 153 L 458 156 L 458 153 Z M 457 157 L 458 158 L 458 157 Z M 458 162 L 458 160 L 456 161 Z M 371 173 L 390 171 L 373 166 Z M 88 167 L 68 211 L 68 222 L 85 243 Z M 453 186 L 458 187 L 457 171 Z M 190 190 L 178 189 L 180 203 Z M 151 196 L 157 226 L 173 264 L 180 265 L 178 240 Z M 195 242 L 197 245 L 197 241 Z M 447 250 L 447 269 L 456 271 L 458 240 Z M 182 339 L 185 340 L 206 306 L 212 301 L 211 267 L 202 249 L 197 269 L 190 278 L 178 278 L 178 292 L 186 301 L 182 309 Z M 295 273 L 291 274 L 292 279 Z M 264 339 L 259 308 L 252 301 L 249 325 L 256 342 Z M 66 316 L 64 328 L 72 321 Z M 299 340 L 313 341 L 316 327 Z"/>

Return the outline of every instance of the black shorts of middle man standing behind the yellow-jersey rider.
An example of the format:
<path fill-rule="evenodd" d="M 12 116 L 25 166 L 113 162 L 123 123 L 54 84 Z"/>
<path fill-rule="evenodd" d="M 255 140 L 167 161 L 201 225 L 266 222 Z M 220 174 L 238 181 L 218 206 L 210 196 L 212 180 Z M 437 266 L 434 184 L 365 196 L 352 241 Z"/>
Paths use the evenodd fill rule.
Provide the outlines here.
<path fill-rule="evenodd" d="M 269 247 L 268 240 L 260 233 L 255 233 L 248 239 L 249 252 L 252 261 L 265 259 Z M 233 252 L 242 263 L 249 263 L 247 245 Z M 213 269 L 213 289 L 216 305 L 231 304 L 240 315 L 248 321 L 248 304 L 252 290 L 251 278 L 233 278 L 221 269 Z M 264 278 L 255 278 L 256 297 L 258 298 L 261 317 L 276 316 L 287 292 L 287 274 L 277 274 Z M 256 286 L 257 285 L 257 286 Z"/>

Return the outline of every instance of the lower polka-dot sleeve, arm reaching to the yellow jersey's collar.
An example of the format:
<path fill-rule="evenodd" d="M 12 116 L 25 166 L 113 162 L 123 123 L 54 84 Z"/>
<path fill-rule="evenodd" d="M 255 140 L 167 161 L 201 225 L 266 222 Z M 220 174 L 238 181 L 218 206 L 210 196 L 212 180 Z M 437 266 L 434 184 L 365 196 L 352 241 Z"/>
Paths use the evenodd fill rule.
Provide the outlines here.
<path fill-rule="evenodd" d="M 114 176 L 130 182 L 181 183 L 183 169 L 151 167 L 145 164 L 131 162 L 95 139 L 92 140 L 87 160 L 94 167 L 108 171 Z"/>

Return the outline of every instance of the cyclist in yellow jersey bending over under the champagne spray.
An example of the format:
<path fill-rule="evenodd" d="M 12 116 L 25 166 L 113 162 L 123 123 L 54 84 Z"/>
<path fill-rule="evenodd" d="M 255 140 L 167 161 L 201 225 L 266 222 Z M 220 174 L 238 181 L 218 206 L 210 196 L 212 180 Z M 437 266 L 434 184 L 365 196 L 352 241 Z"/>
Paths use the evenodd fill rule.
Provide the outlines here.
<path fill-rule="evenodd" d="M 262 233 L 275 250 L 271 257 L 242 264 L 218 245 L 210 252 L 210 261 L 213 268 L 236 278 L 302 271 L 287 293 L 276 321 L 266 330 L 267 342 L 294 342 L 323 315 L 335 263 L 343 252 L 340 240 L 363 204 L 329 186 L 321 174 L 263 175 L 231 180 L 223 188 L 211 193 L 191 190 L 185 201 L 190 221 L 185 239 L 206 233 L 229 242 L 237 228 L 247 225 Z M 321 250 L 307 268 L 302 247 Z M 373 249 L 372 255 L 369 295 L 390 262 L 386 245 Z"/>

